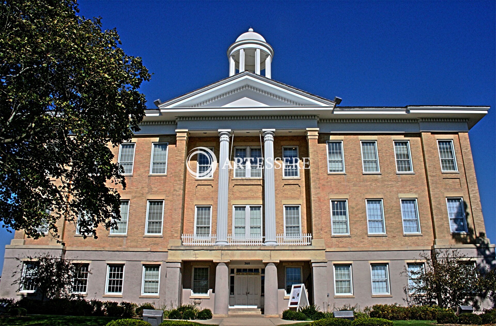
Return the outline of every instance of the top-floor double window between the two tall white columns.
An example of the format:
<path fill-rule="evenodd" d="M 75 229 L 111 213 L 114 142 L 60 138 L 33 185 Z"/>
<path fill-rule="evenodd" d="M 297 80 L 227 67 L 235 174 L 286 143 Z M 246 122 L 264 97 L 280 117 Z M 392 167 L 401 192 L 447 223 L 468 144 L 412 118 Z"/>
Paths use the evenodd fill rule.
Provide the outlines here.
<path fill-rule="evenodd" d="M 261 147 L 234 148 L 234 177 L 261 178 L 262 177 L 262 149 Z"/>

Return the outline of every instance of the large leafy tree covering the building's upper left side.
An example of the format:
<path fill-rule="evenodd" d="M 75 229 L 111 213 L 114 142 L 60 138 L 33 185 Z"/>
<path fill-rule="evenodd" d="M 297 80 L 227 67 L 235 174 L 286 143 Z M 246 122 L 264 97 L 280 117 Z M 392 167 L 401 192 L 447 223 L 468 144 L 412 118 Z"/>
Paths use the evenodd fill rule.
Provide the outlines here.
<path fill-rule="evenodd" d="M 77 12 L 75 0 L 0 3 L 0 221 L 35 239 L 43 224 L 60 239 L 57 220 L 81 212 L 85 237 L 117 225 L 125 180 L 110 146 L 144 117 L 141 58 Z"/>

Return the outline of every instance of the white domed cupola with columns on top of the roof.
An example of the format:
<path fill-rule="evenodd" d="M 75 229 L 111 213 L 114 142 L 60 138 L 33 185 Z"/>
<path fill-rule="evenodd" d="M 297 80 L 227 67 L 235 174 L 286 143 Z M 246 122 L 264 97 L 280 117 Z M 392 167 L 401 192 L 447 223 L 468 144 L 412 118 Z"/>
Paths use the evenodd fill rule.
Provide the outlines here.
<path fill-rule="evenodd" d="M 241 34 L 236 42 L 227 49 L 229 58 L 229 76 L 245 70 L 260 74 L 265 69 L 265 77 L 270 78 L 270 63 L 274 57 L 274 50 L 265 41 L 263 36 L 248 29 Z"/>

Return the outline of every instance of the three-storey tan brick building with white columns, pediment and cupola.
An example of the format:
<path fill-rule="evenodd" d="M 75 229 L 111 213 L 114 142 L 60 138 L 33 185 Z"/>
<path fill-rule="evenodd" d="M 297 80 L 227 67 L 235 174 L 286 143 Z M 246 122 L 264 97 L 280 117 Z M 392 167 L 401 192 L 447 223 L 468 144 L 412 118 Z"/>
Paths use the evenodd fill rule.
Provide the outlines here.
<path fill-rule="evenodd" d="M 402 272 L 435 249 L 494 266 L 468 138 L 489 107 L 342 107 L 272 80 L 273 54 L 250 29 L 228 78 L 157 100 L 114 149 L 119 229 L 83 239 L 60 221 L 65 246 L 16 232 L 0 297 L 33 292 L 9 277 L 36 252 L 85 263 L 74 291 L 88 298 L 219 315 L 280 314 L 298 283 L 324 310 L 404 303 Z"/>

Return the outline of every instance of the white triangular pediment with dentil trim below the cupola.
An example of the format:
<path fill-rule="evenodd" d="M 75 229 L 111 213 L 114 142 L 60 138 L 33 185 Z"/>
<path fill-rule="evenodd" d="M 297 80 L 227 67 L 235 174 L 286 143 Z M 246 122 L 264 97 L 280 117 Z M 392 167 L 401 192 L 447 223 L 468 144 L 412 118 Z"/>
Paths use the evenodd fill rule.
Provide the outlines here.
<path fill-rule="evenodd" d="M 159 105 L 173 108 L 334 107 L 334 102 L 246 71 Z"/>

